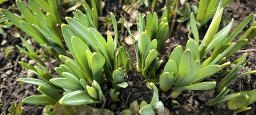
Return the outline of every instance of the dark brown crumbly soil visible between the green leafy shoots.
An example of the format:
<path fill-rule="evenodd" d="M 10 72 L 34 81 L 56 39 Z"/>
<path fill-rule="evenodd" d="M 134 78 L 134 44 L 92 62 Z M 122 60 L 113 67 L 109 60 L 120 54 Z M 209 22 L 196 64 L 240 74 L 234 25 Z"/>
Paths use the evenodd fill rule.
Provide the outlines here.
<path fill-rule="evenodd" d="M 0 5 L 1 8 L 6 9 L 9 6 L 15 6 L 15 1 L 9 1 Z M 104 13 L 103 16 L 108 16 L 109 12 L 112 11 L 116 14 L 117 20 L 120 18 L 119 14 L 123 14 L 127 21 L 132 20 L 132 16 L 125 13 L 123 10 L 120 10 L 123 6 L 123 3 L 120 5 L 120 1 L 104 1 Z M 192 1 L 190 1 L 192 2 Z M 163 3 L 159 3 L 157 7 L 163 7 Z M 148 6 L 150 7 L 150 5 Z M 147 13 L 150 9 L 146 6 L 141 6 L 139 11 L 141 13 Z M 243 18 L 248 16 L 250 13 L 256 13 L 256 4 L 254 0 L 241 0 L 241 1 L 234 1 L 230 5 L 226 7 L 224 11 L 224 18 L 227 21 L 230 21 L 231 18 L 234 18 L 235 23 L 234 26 L 237 26 Z M 157 8 L 156 13 L 161 16 L 161 9 Z M 70 14 L 70 13 L 68 13 Z M 182 45 L 183 47 L 188 40 L 188 33 L 181 28 L 185 28 L 185 25 L 176 24 L 179 28 L 174 29 L 174 36 L 170 37 L 166 44 L 165 52 L 162 52 L 161 59 L 165 62 L 168 59 L 171 51 L 177 46 Z M 119 25 L 120 26 L 120 25 Z M 14 26 L 13 26 L 14 27 Z M 112 28 L 109 28 L 112 30 Z M 203 26 L 200 29 L 201 33 L 205 33 L 204 31 L 207 28 Z M 12 102 L 21 102 L 21 100 L 29 95 L 37 94 L 36 86 L 33 85 L 21 85 L 17 82 L 18 78 L 26 77 L 28 72 L 22 68 L 17 62 L 22 60 L 24 62 L 30 62 L 31 60 L 22 55 L 18 52 L 18 49 L 14 48 L 14 52 L 5 59 L 4 56 L 4 49 L 8 46 L 21 46 L 21 40 L 12 36 L 13 31 L 16 30 L 21 36 L 28 39 L 28 36 L 25 33 L 21 32 L 17 28 L 8 28 L 5 29 L 5 33 L 1 35 L 0 43 L 0 98 L 2 99 L 2 106 L 0 104 L 0 113 L 7 114 L 8 108 Z M 131 30 L 136 30 L 136 25 L 131 27 Z M 106 28 L 100 28 L 100 32 L 106 32 Z M 128 36 L 128 33 L 120 33 L 120 40 L 124 42 L 124 38 Z M 203 36 L 203 34 L 201 34 Z M 252 40 L 249 44 L 246 45 L 241 51 L 236 53 L 234 56 L 230 57 L 230 60 L 235 60 L 240 57 L 244 51 L 249 51 L 247 60 L 246 60 L 246 67 L 243 71 L 248 70 L 256 70 L 256 51 L 252 50 L 256 47 L 256 39 Z M 6 43 L 5 43 L 6 42 Z M 3 44 L 4 43 L 4 44 Z M 125 43 L 125 42 L 124 42 Z M 135 63 L 136 57 L 134 52 L 134 47 L 128 46 L 128 51 L 131 54 L 132 60 Z M 37 46 L 38 48 L 38 46 Z M 251 50 L 251 51 L 250 51 Z M 135 71 L 135 65 L 132 72 L 128 72 L 125 76 L 125 81 L 129 83 L 129 86 L 126 89 L 120 90 L 120 101 L 114 104 L 110 101 L 109 98 L 106 99 L 106 109 L 112 110 L 115 114 L 119 114 L 121 110 L 128 109 L 129 104 L 132 101 L 137 100 L 141 102 L 145 100 L 146 102 L 150 102 L 152 97 L 152 91 L 146 87 L 146 81 L 142 78 L 138 72 Z M 3 72 L 3 73 L 2 73 Z M 32 76 L 36 77 L 36 76 Z M 213 78 L 209 78 L 211 80 Z M 215 81 L 219 81 L 219 79 L 214 78 Z M 239 79 L 238 81 L 232 83 L 230 86 L 231 92 L 240 91 L 243 85 L 243 90 L 254 90 L 256 86 L 256 75 L 247 76 L 244 79 Z M 171 114 L 236 114 L 234 111 L 230 111 L 226 108 L 225 104 L 217 104 L 215 106 L 207 106 L 207 102 L 211 100 L 214 96 L 214 90 L 208 91 L 183 91 L 182 94 L 175 100 L 179 102 L 179 104 L 173 104 L 170 98 L 166 99 L 166 97 L 170 94 L 170 92 L 162 93 L 159 91 L 159 98 L 165 105 L 165 108 L 169 109 Z M 105 96 L 108 96 L 108 91 L 105 92 Z M 241 114 L 256 114 L 256 105 L 252 104 L 251 110 L 247 110 Z M 22 105 L 23 112 L 22 114 L 41 114 L 43 110 L 43 106 L 35 106 L 35 105 Z"/>

